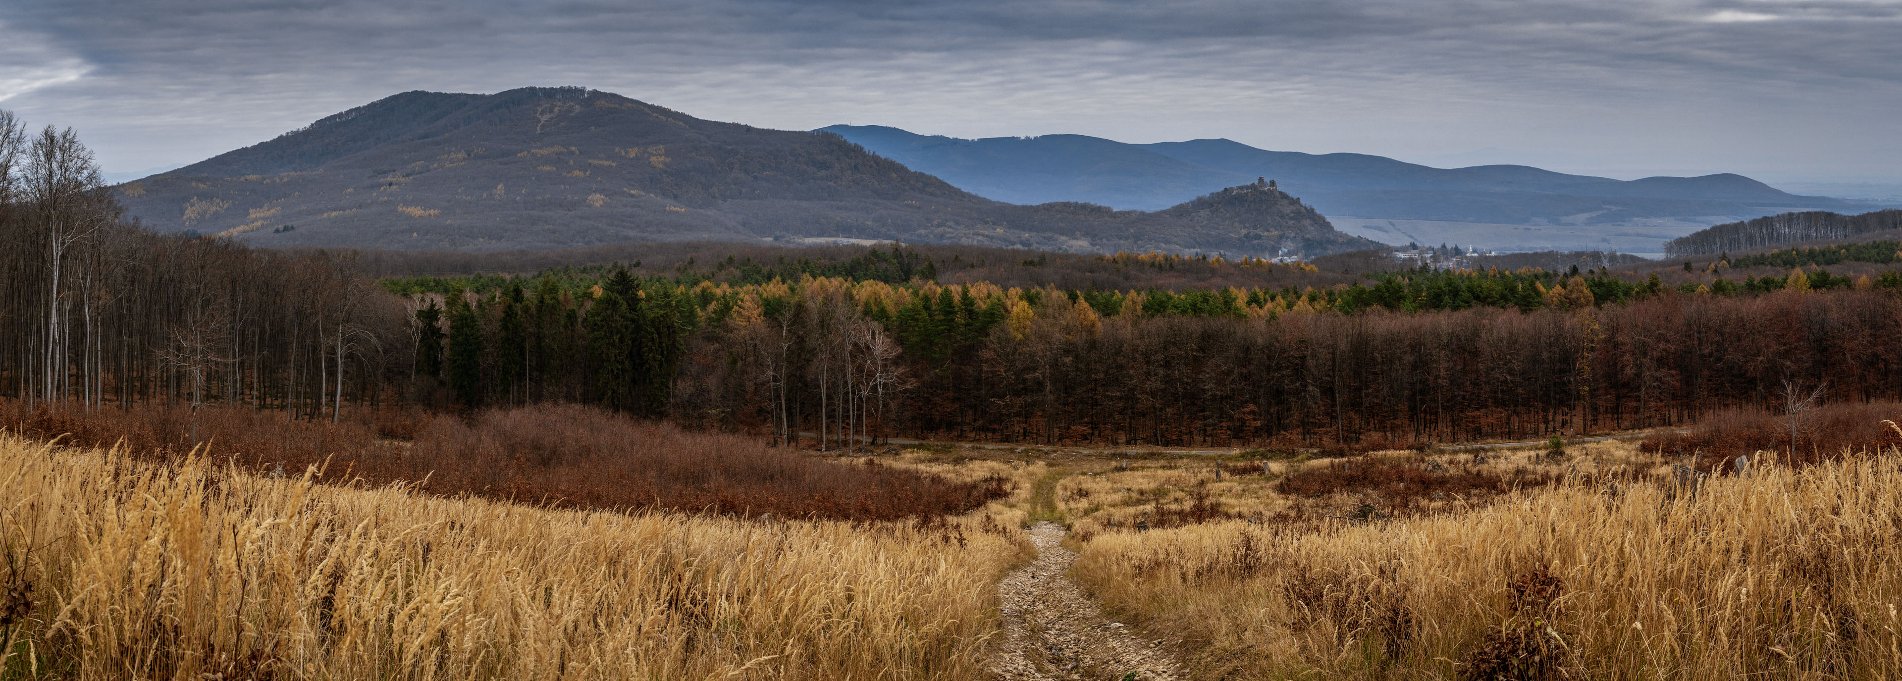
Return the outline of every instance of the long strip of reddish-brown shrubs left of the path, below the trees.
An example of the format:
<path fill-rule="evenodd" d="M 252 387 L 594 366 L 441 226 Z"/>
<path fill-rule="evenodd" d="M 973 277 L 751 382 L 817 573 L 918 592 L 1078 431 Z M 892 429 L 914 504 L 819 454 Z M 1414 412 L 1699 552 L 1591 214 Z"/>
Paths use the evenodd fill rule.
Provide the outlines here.
<path fill-rule="evenodd" d="M 877 464 L 812 460 L 755 438 L 687 432 L 580 405 L 493 409 L 468 420 L 386 411 L 329 424 L 247 407 L 204 407 L 194 417 L 165 405 L 86 413 L 80 405 L 27 411 L 4 401 L 0 418 L 27 436 L 67 434 L 80 447 L 124 443 L 150 458 L 207 445 L 213 457 L 266 472 L 325 466 L 333 481 L 415 481 L 436 495 L 573 508 L 871 521 L 962 514 L 1008 493 L 1004 479 L 953 483 Z"/>

